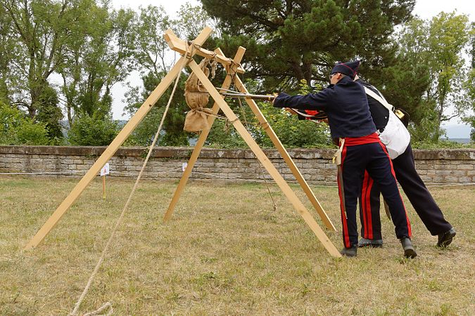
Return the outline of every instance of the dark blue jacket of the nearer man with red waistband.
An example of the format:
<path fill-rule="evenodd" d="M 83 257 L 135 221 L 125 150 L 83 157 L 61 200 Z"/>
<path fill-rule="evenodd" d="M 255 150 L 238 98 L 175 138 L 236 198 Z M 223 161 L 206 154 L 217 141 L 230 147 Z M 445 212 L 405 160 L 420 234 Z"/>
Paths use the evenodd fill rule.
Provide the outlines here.
<path fill-rule="evenodd" d="M 274 107 L 327 112 L 332 138 L 367 136 L 376 131 L 365 89 L 350 77 L 343 77 L 319 93 L 305 96 L 280 93 L 274 100 Z"/>

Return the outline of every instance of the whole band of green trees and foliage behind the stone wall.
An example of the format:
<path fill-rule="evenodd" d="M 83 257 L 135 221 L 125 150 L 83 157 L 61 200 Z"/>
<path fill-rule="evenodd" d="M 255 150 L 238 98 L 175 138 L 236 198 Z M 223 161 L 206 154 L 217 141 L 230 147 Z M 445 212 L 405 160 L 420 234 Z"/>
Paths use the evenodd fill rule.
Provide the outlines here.
<path fill-rule="evenodd" d="M 246 47 L 243 80 L 252 93 L 275 88 L 303 91 L 303 79 L 307 88 L 327 84 L 334 61 L 359 58 L 362 77 L 410 113 L 416 140 L 438 139 L 441 124 L 452 117 L 462 117 L 475 131 L 475 31 L 467 15 L 411 19 L 414 0 L 201 2 L 203 6 L 185 4 L 174 20 L 160 6 L 141 7 L 136 13 L 113 10 L 108 0 L 0 1 L 0 102 L 30 117 L 29 123 L 22 119 L 22 124 L 8 126 L 27 126 L 27 134 L 38 132 L 40 143 L 40 130 L 45 129 L 49 143 L 59 144 L 65 113 L 72 126 L 71 143 L 106 144 L 117 132 L 111 120 L 114 84 L 125 81 L 132 70 L 139 71 L 143 86 L 129 86 L 126 93 L 126 111 L 134 114 L 179 58 L 170 53 L 165 30 L 194 39 L 211 25 L 217 32 L 205 48 L 220 47 L 231 57 L 238 46 Z M 403 28 L 394 35 L 398 25 Z M 462 55 L 467 46 L 471 67 Z M 189 110 L 183 96 L 188 74 L 187 69 L 182 72 L 159 145 L 188 145 L 196 138 L 183 131 Z M 224 71 L 219 70 L 213 84 L 220 86 L 223 79 Z M 165 91 L 128 144 L 151 142 L 171 90 Z M 249 117 L 246 126 L 260 145 L 271 145 L 247 106 L 236 100 L 229 104 L 241 117 Z M 267 103 L 260 107 L 284 145 L 327 142 L 323 126 L 297 121 Z M 226 125 L 215 122 L 208 145 L 243 146 Z"/>

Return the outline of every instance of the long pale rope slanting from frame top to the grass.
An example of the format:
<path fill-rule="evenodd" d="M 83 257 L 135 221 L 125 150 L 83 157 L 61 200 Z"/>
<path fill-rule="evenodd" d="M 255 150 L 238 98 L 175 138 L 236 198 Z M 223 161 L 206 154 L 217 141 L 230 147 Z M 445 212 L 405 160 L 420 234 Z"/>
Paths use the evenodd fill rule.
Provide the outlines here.
<path fill-rule="evenodd" d="M 72 310 L 70 315 L 77 315 L 77 311 L 79 310 L 80 305 L 81 305 L 82 301 L 84 300 L 84 297 L 87 294 L 87 291 L 89 291 L 89 287 L 91 287 L 91 283 L 94 280 L 94 277 L 96 276 L 97 272 L 99 271 L 99 268 L 101 268 L 101 265 L 102 265 L 102 263 L 104 261 L 104 258 L 106 256 L 106 252 L 108 251 L 108 248 L 109 248 L 111 242 L 113 241 L 113 239 L 115 237 L 115 232 L 117 231 L 120 223 L 122 223 L 122 219 L 124 218 L 125 211 L 127 210 L 127 206 L 129 206 L 130 200 L 132 199 L 132 195 L 134 195 L 134 192 L 137 189 L 137 186 L 139 185 L 139 180 L 141 178 L 141 175 L 142 175 L 142 173 L 144 173 L 145 166 L 148 162 L 148 159 L 151 156 L 151 153 L 153 151 L 153 147 L 155 146 L 155 144 L 158 140 L 158 136 L 160 135 L 160 131 L 161 131 L 162 126 L 163 126 L 163 121 L 165 121 L 165 117 L 167 115 L 168 108 L 170 107 L 170 103 L 172 102 L 172 98 L 175 95 L 175 90 L 177 89 L 177 85 L 178 85 L 180 74 L 182 73 L 182 69 L 185 67 L 186 63 L 189 62 L 189 57 L 187 57 L 187 54 L 188 54 L 188 48 L 186 48 L 186 52 L 184 54 L 185 58 L 182 62 L 180 70 L 178 72 L 177 79 L 175 80 L 175 86 L 173 86 L 172 94 L 170 95 L 170 98 L 168 99 L 167 106 L 165 107 L 165 112 L 163 112 L 163 117 L 162 117 L 162 120 L 160 121 L 160 126 L 158 126 L 158 131 L 157 131 L 155 137 L 153 138 L 152 144 L 150 145 L 150 149 L 148 150 L 148 154 L 147 154 L 147 157 L 145 158 L 144 164 L 142 165 L 142 169 L 140 170 L 139 176 L 137 177 L 137 180 L 135 181 L 134 187 L 132 188 L 132 192 L 130 192 L 129 199 L 127 199 L 127 202 L 125 203 L 124 209 L 122 209 L 122 213 L 120 213 L 120 216 L 119 216 L 117 222 L 115 223 L 115 227 L 112 230 L 112 233 L 110 234 L 109 240 L 108 240 L 106 246 L 104 247 L 104 249 L 102 251 L 101 258 L 99 258 L 99 261 L 97 261 L 96 267 L 94 268 L 94 271 L 92 272 L 91 277 L 89 277 L 89 281 L 87 282 L 87 285 L 84 288 L 84 291 L 82 291 L 82 294 L 81 294 L 79 300 L 77 300 L 77 303 L 75 304 L 75 308 Z M 193 55 L 193 49 L 191 49 L 190 56 L 192 56 L 192 55 Z M 104 304 L 101 308 L 99 308 L 99 310 L 105 309 L 107 307 L 106 305 L 110 305 L 110 309 L 111 309 L 110 313 L 111 313 L 112 312 L 112 305 L 109 302 Z M 96 310 L 95 312 L 93 312 L 90 315 L 97 315 L 96 312 L 99 312 L 99 310 Z"/>

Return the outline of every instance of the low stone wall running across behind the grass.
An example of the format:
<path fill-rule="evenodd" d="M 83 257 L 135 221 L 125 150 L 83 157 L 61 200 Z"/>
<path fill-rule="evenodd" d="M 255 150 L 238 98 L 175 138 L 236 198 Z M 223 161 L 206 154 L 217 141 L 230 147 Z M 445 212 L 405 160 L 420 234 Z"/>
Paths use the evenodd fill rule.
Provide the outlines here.
<path fill-rule="evenodd" d="M 80 177 L 106 147 L 0 146 L 0 173 Z M 157 147 L 144 171 L 144 178 L 179 179 L 182 165 L 193 147 Z M 265 150 L 286 180 L 294 181 L 277 150 Z M 308 183 L 335 185 L 334 150 L 292 149 L 289 154 Z M 110 176 L 137 177 L 147 148 L 120 148 L 110 159 Z M 414 150 L 417 170 L 428 185 L 475 183 L 475 150 Z M 271 177 L 260 168 L 251 150 L 205 148 L 191 178 L 262 181 Z"/>

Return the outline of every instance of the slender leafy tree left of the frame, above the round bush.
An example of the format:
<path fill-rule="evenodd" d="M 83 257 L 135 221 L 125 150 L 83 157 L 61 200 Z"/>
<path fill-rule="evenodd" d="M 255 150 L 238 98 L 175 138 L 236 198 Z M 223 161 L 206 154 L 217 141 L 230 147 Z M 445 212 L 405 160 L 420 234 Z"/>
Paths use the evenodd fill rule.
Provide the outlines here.
<path fill-rule="evenodd" d="M 89 0 L 78 6 L 81 23 L 71 26 L 74 36 L 65 45 L 68 62 L 58 68 L 70 123 L 78 113 L 110 114 L 110 88 L 132 70 L 134 51 L 133 11 L 110 11 Z"/>

